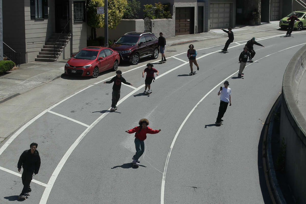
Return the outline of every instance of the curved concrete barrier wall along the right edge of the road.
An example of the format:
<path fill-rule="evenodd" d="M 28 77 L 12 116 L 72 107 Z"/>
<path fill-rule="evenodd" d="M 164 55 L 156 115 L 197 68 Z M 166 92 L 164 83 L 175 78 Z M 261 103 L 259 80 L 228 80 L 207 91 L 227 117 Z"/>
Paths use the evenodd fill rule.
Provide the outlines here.
<path fill-rule="evenodd" d="M 306 70 L 306 45 L 290 60 L 282 84 L 280 136 L 286 144 L 286 178 L 297 203 L 306 202 L 306 120 L 297 107 L 297 89 Z"/>

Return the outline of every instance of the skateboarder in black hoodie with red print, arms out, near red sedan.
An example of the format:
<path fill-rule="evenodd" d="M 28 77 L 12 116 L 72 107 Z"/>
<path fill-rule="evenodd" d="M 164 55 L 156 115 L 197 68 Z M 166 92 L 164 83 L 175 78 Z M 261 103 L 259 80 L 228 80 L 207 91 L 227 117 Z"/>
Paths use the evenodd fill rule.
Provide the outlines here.
<path fill-rule="evenodd" d="M 121 70 L 116 71 L 116 76 L 114 76 L 110 81 L 105 81 L 104 83 L 113 83 L 113 92 L 112 92 L 112 107 L 110 110 L 117 110 L 118 106 L 117 103 L 120 98 L 120 89 L 121 89 L 121 82 L 133 86 L 131 83 L 127 82 L 125 78 L 122 77 Z"/>

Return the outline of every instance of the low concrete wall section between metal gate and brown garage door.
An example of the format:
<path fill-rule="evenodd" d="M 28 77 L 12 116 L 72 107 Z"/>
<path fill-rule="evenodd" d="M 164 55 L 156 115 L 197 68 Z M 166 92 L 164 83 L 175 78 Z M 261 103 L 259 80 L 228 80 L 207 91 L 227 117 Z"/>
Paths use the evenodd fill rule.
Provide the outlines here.
<path fill-rule="evenodd" d="M 175 22 L 173 19 L 153 19 L 151 20 L 151 28 L 156 37 L 159 37 L 160 32 L 165 38 L 175 37 Z"/>

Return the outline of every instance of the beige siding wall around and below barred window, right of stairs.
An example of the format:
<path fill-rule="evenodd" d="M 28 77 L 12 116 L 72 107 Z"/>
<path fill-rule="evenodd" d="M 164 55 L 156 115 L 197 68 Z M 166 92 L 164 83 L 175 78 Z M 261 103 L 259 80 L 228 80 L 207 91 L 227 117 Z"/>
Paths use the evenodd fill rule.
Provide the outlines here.
<path fill-rule="evenodd" d="M 82 48 L 87 46 L 87 23 L 86 22 L 74 22 L 73 20 L 73 0 L 70 0 L 71 10 L 71 40 L 72 40 L 72 53 L 75 54 Z"/>

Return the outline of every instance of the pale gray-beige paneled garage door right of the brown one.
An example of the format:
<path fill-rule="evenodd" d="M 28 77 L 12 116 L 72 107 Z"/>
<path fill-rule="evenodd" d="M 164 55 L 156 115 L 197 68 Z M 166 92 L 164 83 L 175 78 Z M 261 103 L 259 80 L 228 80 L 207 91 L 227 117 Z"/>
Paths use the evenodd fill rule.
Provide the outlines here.
<path fill-rule="evenodd" d="M 210 29 L 230 26 L 230 3 L 210 4 Z"/>

